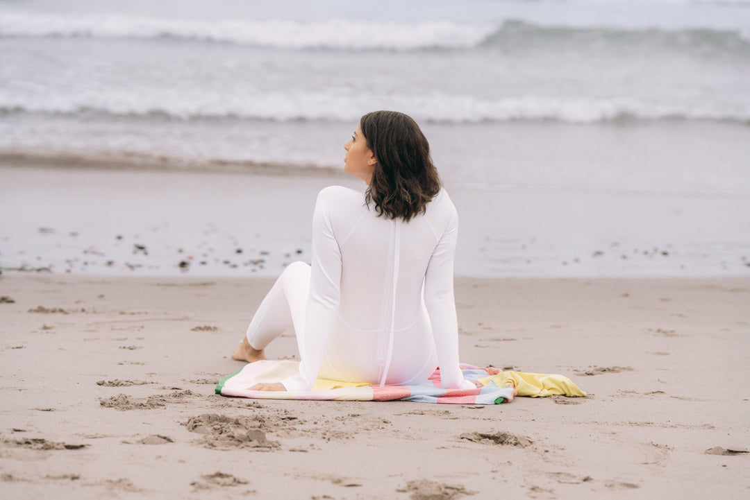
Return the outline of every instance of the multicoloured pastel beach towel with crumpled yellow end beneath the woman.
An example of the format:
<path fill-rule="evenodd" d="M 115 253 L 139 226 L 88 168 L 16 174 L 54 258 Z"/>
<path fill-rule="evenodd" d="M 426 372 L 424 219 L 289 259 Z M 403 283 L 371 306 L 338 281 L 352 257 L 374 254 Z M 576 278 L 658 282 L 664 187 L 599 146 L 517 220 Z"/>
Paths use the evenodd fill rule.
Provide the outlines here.
<path fill-rule="evenodd" d="M 254 399 L 338 400 L 338 401 L 418 401 L 420 403 L 499 404 L 511 401 L 514 390 L 519 396 L 545 397 L 554 394 L 585 396 L 570 379 L 562 375 L 525 374 L 460 365 L 463 376 L 482 387 L 444 389 L 440 387 L 440 368 L 425 382 L 413 385 L 371 385 L 317 379 L 311 391 L 251 391 L 259 382 L 281 382 L 299 373 L 299 362 L 258 361 L 225 376 L 216 386 L 216 394 Z M 515 386 L 515 389 L 514 389 Z"/>

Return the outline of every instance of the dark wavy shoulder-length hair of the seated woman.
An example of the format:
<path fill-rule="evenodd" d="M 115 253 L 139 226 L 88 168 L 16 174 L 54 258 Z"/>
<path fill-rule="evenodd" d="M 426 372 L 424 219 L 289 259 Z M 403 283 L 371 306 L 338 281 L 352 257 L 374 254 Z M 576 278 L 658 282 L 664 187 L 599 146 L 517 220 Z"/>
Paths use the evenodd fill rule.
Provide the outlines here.
<path fill-rule="evenodd" d="M 378 216 L 408 222 L 425 213 L 440 191 L 430 144 L 410 116 L 395 111 L 368 113 L 359 127 L 377 161 L 365 203 L 373 201 Z"/>

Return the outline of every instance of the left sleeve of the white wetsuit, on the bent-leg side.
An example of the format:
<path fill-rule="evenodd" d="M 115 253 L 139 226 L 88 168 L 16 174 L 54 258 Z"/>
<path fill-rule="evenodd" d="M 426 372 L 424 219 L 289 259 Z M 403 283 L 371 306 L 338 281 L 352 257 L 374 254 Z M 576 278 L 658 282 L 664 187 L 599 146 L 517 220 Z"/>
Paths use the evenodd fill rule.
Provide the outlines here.
<path fill-rule="evenodd" d="M 313 388 L 341 299 L 341 249 L 335 239 L 330 207 L 326 203 L 328 189 L 320 192 L 315 204 L 310 298 L 302 335 L 302 360 L 299 375 L 282 382 L 287 391 Z"/>

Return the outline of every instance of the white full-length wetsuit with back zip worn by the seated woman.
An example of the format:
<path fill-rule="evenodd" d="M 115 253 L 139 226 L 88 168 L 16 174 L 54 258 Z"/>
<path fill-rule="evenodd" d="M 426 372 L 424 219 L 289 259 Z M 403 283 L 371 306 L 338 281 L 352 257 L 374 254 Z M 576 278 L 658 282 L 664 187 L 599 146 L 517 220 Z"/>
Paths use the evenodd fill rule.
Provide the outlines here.
<path fill-rule="evenodd" d="M 453 255 L 458 216 L 445 190 L 409 222 L 378 217 L 361 192 L 323 189 L 312 266 L 287 266 L 248 327 L 263 349 L 293 324 L 302 358 L 289 391 L 315 379 L 408 384 L 440 365 L 443 388 L 474 388 L 458 367 Z"/>

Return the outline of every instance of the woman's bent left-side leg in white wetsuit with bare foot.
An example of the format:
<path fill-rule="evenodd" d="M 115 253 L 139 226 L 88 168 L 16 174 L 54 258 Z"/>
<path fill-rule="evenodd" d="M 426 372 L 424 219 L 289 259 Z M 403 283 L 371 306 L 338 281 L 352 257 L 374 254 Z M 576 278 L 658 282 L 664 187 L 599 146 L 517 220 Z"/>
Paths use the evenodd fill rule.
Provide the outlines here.
<path fill-rule="evenodd" d="M 290 263 L 260 303 L 247 335 L 232 358 L 247 362 L 266 359 L 263 350 L 290 326 L 294 326 L 297 344 L 302 345 L 309 294 L 310 266 L 304 262 Z"/>

